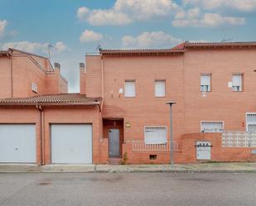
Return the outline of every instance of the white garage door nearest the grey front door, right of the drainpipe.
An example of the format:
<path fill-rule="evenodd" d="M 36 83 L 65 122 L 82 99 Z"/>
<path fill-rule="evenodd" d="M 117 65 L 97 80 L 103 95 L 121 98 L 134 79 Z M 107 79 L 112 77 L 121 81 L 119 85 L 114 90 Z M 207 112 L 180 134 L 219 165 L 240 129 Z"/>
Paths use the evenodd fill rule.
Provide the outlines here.
<path fill-rule="evenodd" d="M 51 162 L 92 164 L 92 125 L 52 124 Z"/>

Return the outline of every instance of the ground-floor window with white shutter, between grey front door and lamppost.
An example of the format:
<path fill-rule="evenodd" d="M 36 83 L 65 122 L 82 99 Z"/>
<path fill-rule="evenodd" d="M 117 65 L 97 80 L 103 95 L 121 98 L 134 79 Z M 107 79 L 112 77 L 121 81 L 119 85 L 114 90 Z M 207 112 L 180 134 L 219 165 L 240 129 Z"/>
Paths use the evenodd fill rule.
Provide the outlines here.
<path fill-rule="evenodd" d="M 144 128 L 145 144 L 166 144 L 167 127 L 163 126 L 146 126 Z"/>

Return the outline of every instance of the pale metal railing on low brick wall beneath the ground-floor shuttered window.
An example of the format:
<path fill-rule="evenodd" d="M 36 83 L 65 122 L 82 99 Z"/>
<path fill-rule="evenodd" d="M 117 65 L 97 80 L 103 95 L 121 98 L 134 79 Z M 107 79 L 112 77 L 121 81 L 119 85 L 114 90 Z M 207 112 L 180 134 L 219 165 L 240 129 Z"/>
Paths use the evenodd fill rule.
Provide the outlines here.
<path fill-rule="evenodd" d="M 165 144 L 145 144 L 144 141 L 126 141 L 132 144 L 133 151 L 170 151 L 170 141 Z M 178 151 L 178 142 L 173 142 L 173 151 Z"/>

